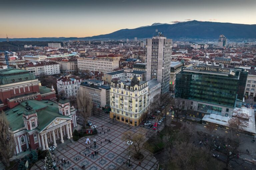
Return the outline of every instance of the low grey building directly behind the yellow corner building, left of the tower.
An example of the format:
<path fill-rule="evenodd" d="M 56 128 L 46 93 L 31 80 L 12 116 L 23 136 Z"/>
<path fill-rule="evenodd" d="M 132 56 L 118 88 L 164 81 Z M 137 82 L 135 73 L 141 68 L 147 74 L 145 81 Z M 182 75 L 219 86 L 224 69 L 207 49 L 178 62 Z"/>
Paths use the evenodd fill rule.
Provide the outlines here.
<path fill-rule="evenodd" d="M 113 72 L 105 73 L 102 76 L 102 80 L 108 84 L 111 83 L 111 80 L 113 78 L 119 78 L 119 79 L 131 79 L 135 76 L 140 77 L 140 80 L 145 81 L 145 71 L 136 71 L 132 69 L 123 69 Z"/>

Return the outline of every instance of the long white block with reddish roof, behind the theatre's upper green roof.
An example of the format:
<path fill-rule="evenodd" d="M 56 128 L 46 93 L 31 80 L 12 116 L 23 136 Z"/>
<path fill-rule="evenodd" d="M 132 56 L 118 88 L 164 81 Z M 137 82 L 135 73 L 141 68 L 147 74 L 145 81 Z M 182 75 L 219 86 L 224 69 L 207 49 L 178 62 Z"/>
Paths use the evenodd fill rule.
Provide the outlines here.
<path fill-rule="evenodd" d="M 56 62 L 27 63 L 26 65 L 23 64 L 23 69 L 30 71 L 30 73 L 36 76 L 40 74 L 60 74 L 60 65 Z"/>

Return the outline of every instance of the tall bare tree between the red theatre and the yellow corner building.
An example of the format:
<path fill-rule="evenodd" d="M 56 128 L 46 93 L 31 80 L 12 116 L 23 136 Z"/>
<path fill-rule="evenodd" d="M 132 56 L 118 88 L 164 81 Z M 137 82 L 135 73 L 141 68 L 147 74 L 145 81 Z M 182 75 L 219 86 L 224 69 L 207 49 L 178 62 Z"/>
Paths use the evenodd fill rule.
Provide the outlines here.
<path fill-rule="evenodd" d="M 86 128 L 87 120 L 91 116 L 92 99 L 89 98 L 89 94 L 82 88 L 79 89 L 77 95 L 78 114 L 84 118 L 84 127 Z"/>

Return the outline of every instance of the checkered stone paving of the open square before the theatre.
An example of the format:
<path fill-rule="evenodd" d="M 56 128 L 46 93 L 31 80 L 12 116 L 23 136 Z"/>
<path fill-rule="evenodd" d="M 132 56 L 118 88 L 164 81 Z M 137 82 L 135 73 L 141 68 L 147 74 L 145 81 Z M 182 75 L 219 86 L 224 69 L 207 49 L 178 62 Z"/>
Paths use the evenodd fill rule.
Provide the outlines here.
<path fill-rule="evenodd" d="M 80 120 L 79 120 L 80 121 Z M 78 123 L 81 123 L 79 122 Z M 97 126 L 98 134 L 95 136 L 90 136 L 91 144 L 86 145 L 85 141 L 87 137 L 82 137 L 76 142 L 68 142 L 67 144 L 61 144 L 57 146 L 55 151 L 55 160 L 57 162 L 57 157 L 59 161 L 57 162 L 57 167 L 60 166 L 63 170 L 80 170 L 81 166 L 85 165 L 86 170 L 114 170 L 120 166 L 127 166 L 129 157 L 129 148 L 126 144 L 126 141 L 122 139 L 122 133 L 131 130 L 133 133 L 141 132 L 145 134 L 146 139 L 150 135 L 154 134 L 154 131 L 143 128 L 141 126 L 129 127 L 129 125 L 121 122 L 113 122 L 112 119 L 108 117 L 108 114 L 104 114 L 101 117 L 91 117 L 90 121 Z M 102 130 L 103 128 L 103 130 Z M 107 129 L 110 129 L 108 132 Z M 105 134 L 104 134 L 105 131 Z M 101 134 L 100 134 L 101 132 Z M 147 135 L 146 135 L 147 134 Z M 96 139 L 96 148 L 93 146 L 93 137 Z M 111 143 L 105 141 L 105 139 L 110 139 Z M 102 144 L 101 144 L 102 142 Z M 90 148 L 90 146 L 92 147 Z M 86 147 L 90 149 L 87 150 Z M 90 154 L 94 151 L 98 151 L 99 154 L 94 155 Z M 157 167 L 157 159 L 148 151 L 142 150 L 144 154 L 144 159 L 141 161 L 139 166 L 139 161 L 136 161 L 132 158 L 134 154 L 134 149 L 131 148 L 131 167 L 129 169 L 135 170 L 153 170 Z M 90 156 L 89 156 L 90 155 Z M 60 159 L 65 159 L 66 164 L 60 164 Z M 78 160 L 79 158 L 79 160 Z M 67 163 L 69 161 L 69 164 Z M 125 165 L 124 165 L 125 163 Z M 31 170 L 43 170 L 44 169 L 44 160 L 38 161 Z M 59 168 L 57 168 L 59 169 Z"/>

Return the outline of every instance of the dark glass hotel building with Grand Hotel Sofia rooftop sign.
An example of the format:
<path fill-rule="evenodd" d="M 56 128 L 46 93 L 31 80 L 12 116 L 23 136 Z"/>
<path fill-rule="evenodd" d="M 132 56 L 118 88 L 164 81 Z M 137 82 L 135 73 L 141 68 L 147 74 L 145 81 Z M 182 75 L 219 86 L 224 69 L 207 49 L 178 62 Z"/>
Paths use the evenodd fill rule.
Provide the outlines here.
<path fill-rule="evenodd" d="M 244 101 L 247 79 L 244 69 L 221 66 L 191 66 L 176 74 L 175 98 L 189 100 L 196 116 L 216 114 L 232 117 Z"/>

